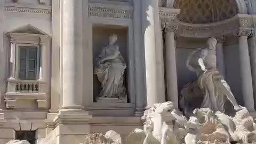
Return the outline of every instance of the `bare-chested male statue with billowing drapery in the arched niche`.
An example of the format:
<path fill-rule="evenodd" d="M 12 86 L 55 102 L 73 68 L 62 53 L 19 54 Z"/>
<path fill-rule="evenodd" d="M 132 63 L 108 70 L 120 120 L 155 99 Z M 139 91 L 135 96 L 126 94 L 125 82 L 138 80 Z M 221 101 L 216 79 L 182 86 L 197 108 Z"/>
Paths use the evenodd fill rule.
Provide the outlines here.
<path fill-rule="evenodd" d="M 228 99 L 239 110 L 233 93 L 227 82 L 217 70 L 216 44 L 217 39 L 209 38 L 208 47 L 197 49 L 191 53 L 187 60 L 189 70 L 197 73 L 197 83 L 201 90 L 204 91 L 204 100 L 202 108 L 210 108 L 214 111 L 225 112 L 224 105 Z"/>

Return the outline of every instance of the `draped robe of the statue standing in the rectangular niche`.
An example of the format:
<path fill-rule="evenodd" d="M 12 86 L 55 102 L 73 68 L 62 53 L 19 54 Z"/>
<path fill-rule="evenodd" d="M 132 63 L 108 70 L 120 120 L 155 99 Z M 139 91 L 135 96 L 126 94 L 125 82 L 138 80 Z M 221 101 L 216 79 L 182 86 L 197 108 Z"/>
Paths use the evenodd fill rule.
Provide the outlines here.
<path fill-rule="evenodd" d="M 109 57 L 109 55 L 116 52 L 107 52 L 107 49 L 108 46 L 103 48 L 95 61 L 94 67 L 94 73 L 97 74 L 102 87 L 100 97 L 122 97 L 122 94 L 125 93 L 123 74 L 126 64 L 121 54 L 116 59 L 106 60 L 100 63 L 103 58 Z"/>

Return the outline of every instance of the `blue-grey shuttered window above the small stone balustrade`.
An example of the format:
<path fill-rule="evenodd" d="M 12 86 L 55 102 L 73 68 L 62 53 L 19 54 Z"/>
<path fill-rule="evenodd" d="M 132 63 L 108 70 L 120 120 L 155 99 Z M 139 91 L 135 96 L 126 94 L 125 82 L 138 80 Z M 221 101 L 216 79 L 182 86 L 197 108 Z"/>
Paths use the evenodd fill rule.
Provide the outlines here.
<path fill-rule="evenodd" d="M 19 79 L 37 79 L 37 47 L 20 46 Z"/>

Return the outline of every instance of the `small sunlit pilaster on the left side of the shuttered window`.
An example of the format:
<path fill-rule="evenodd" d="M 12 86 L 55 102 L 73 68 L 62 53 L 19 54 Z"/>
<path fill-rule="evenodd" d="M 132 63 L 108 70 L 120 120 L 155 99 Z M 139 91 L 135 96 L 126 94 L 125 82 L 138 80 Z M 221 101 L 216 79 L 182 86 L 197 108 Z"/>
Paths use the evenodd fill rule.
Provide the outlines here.
<path fill-rule="evenodd" d="M 16 52 L 16 42 L 11 39 L 11 52 L 10 52 L 10 77 L 9 79 L 15 79 L 15 52 Z"/>

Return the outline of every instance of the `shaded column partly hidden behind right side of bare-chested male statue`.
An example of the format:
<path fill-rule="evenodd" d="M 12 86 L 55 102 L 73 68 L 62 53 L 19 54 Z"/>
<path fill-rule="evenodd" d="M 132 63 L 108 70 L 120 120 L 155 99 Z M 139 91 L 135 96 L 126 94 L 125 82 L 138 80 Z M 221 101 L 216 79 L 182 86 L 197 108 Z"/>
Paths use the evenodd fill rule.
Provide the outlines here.
<path fill-rule="evenodd" d="M 217 45 L 216 45 L 217 68 L 220 71 L 221 75 L 224 78 L 226 78 L 226 68 L 225 68 L 224 54 L 223 54 L 223 43 L 224 43 L 223 37 L 217 38 Z"/>

